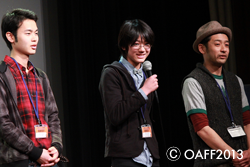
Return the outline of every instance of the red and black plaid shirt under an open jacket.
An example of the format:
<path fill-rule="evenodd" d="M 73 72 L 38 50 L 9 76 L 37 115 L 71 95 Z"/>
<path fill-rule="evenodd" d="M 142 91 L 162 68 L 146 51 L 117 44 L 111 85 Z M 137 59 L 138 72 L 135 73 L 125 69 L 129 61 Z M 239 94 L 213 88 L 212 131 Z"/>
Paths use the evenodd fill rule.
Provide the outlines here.
<path fill-rule="evenodd" d="M 39 80 L 37 79 L 37 94 L 38 94 L 38 115 L 39 119 L 41 120 L 41 123 L 48 126 L 49 129 L 49 135 L 48 138 L 35 138 L 35 130 L 34 125 L 38 125 L 38 119 L 36 117 L 33 105 L 30 101 L 28 92 L 26 90 L 25 84 L 23 82 L 22 76 L 20 74 L 20 71 L 14 62 L 9 56 L 5 56 L 4 62 L 9 67 L 15 81 L 16 81 L 16 91 L 17 91 L 17 107 L 18 111 L 20 113 L 20 116 L 22 118 L 23 126 L 26 131 L 26 135 L 34 142 L 34 145 L 39 148 L 46 148 L 48 149 L 51 146 L 52 137 L 51 137 L 51 131 L 47 124 L 47 122 L 44 120 L 44 113 L 45 113 L 45 99 L 43 94 L 43 88 Z M 36 108 L 36 84 L 35 84 L 35 69 L 31 65 L 31 63 L 28 63 L 28 74 L 26 73 L 25 67 L 23 67 L 21 64 L 19 64 L 20 69 L 22 70 L 23 77 L 26 81 L 27 87 L 29 89 L 30 95 L 33 100 L 33 104 Z"/>

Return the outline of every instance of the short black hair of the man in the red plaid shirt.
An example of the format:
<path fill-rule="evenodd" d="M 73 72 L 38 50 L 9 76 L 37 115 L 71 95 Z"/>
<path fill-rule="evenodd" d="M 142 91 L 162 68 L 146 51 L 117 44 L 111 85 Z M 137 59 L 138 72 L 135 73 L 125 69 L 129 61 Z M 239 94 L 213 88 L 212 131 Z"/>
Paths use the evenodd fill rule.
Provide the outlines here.
<path fill-rule="evenodd" d="M 38 18 L 34 12 L 21 8 L 14 9 L 3 16 L 1 24 L 2 36 L 10 50 L 12 50 L 12 46 L 10 41 L 6 38 L 6 33 L 11 32 L 17 42 L 17 29 L 26 19 L 31 19 L 36 22 Z"/>

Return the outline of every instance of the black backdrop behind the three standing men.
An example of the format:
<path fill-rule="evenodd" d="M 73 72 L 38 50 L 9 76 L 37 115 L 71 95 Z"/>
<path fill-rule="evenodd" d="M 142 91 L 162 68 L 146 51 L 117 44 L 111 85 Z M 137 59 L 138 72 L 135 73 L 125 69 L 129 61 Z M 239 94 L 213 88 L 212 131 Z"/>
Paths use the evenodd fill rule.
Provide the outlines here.
<path fill-rule="evenodd" d="M 215 2 L 215 1 L 214 1 Z M 158 75 L 159 108 L 155 105 L 155 131 L 161 148 L 162 166 L 192 166 L 183 153 L 192 149 L 181 96 L 182 79 L 202 62 L 192 44 L 200 26 L 226 13 L 233 30 L 235 72 L 250 84 L 249 1 L 221 0 L 211 7 L 206 0 L 43 0 L 48 76 L 59 103 L 67 166 L 109 167 L 104 158 L 104 113 L 98 91 L 102 67 L 119 60 L 119 28 L 127 19 L 141 19 L 155 32 L 156 41 L 148 57 Z M 228 11 L 230 3 L 230 15 Z M 221 5 L 222 4 L 222 5 Z M 226 18 L 226 19 L 225 19 Z M 228 22 L 225 22 L 228 23 Z M 223 25 L 225 26 L 225 24 Z M 237 55 L 237 56 L 236 56 Z M 231 66 L 227 68 L 230 69 Z M 233 69 L 233 68 L 232 68 Z M 61 87 L 58 90 L 58 87 Z M 58 100 L 59 99 L 59 100 Z M 166 148 L 164 147 L 166 146 Z M 166 158 L 166 149 L 178 147 L 178 161 Z"/>

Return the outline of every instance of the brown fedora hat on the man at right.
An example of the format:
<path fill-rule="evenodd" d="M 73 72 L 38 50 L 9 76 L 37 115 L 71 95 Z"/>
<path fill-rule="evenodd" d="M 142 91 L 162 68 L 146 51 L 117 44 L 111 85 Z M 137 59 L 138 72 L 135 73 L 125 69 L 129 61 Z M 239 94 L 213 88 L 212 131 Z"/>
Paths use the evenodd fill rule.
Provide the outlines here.
<path fill-rule="evenodd" d="M 229 28 L 222 27 L 222 25 L 217 21 L 210 21 L 198 29 L 196 33 L 196 40 L 193 43 L 194 51 L 200 53 L 198 50 L 199 43 L 206 37 L 217 33 L 226 34 L 229 38 L 229 41 L 232 39 L 232 32 Z"/>

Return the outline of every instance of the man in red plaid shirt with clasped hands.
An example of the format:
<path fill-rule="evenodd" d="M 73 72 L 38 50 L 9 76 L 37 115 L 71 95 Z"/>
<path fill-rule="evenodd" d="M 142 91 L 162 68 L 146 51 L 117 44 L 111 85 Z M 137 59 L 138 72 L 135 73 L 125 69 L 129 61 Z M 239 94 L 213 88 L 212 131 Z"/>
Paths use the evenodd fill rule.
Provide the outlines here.
<path fill-rule="evenodd" d="M 0 63 L 0 167 L 57 166 L 62 153 L 48 77 L 29 61 L 38 44 L 36 21 L 34 12 L 20 8 L 2 18 L 10 56 Z"/>

